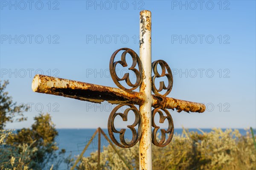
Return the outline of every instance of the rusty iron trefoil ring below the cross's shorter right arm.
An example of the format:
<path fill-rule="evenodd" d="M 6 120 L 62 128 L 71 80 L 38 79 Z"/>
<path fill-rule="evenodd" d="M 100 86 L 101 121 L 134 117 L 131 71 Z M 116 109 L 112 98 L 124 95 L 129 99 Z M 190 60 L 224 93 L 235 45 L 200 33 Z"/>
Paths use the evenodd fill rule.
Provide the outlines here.
<path fill-rule="evenodd" d="M 166 113 L 166 116 L 163 116 L 163 112 L 160 111 L 160 110 L 163 110 Z M 157 126 L 154 122 L 154 116 L 155 116 L 156 113 L 159 113 L 159 116 L 160 116 L 159 122 L 160 123 L 163 123 L 165 121 L 165 119 L 167 119 L 168 123 L 169 123 L 169 126 L 168 126 L 167 130 L 161 129 L 161 139 L 160 139 L 159 142 L 157 141 L 157 130 L 160 127 Z M 152 132 L 152 143 L 154 145 L 164 147 L 164 146 L 166 146 L 167 144 L 169 144 L 171 142 L 172 136 L 173 136 L 173 133 L 174 133 L 174 125 L 173 125 L 172 116 L 169 113 L 169 111 L 167 111 L 166 109 L 155 108 L 152 111 L 152 127 L 154 127 L 154 130 Z M 167 140 L 166 140 L 166 133 L 169 133 L 169 137 L 168 137 Z"/>

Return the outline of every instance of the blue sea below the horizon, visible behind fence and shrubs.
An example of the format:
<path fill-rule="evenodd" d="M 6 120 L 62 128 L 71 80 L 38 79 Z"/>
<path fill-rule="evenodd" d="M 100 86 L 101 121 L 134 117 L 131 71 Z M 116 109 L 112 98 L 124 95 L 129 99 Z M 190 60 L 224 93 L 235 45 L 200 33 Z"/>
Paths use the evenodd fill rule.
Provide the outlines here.
<path fill-rule="evenodd" d="M 93 136 L 93 133 L 97 129 L 57 129 L 58 130 L 58 136 L 55 138 L 55 145 L 58 146 L 59 150 L 65 149 L 66 153 L 65 156 L 71 156 L 72 158 L 75 158 L 75 156 L 78 156 L 83 151 L 86 144 L 89 142 L 91 136 Z M 102 129 L 105 134 L 108 136 L 108 129 Z M 204 132 L 210 132 L 211 129 L 201 129 Z M 198 133 L 202 133 L 201 130 L 198 129 L 189 129 L 189 131 L 196 131 Z M 225 129 L 222 129 L 225 130 Z M 244 129 L 238 129 L 241 135 L 246 135 L 246 130 Z M 183 129 L 176 128 L 174 130 L 174 134 L 182 134 Z M 256 130 L 254 129 L 254 134 L 256 134 Z M 115 135 L 116 138 L 118 138 L 118 134 Z M 109 137 L 109 136 L 108 136 Z M 125 132 L 125 139 L 131 140 L 132 134 L 130 130 L 126 130 Z M 174 139 L 173 139 L 174 140 Z M 95 152 L 98 150 L 98 134 L 96 134 L 95 138 L 85 151 L 84 155 L 85 157 L 90 156 L 90 153 Z M 212 142 L 212 139 L 210 139 L 209 144 Z M 214 142 L 214 141 L 213 141 Z M 216 141 L 215 141 L 216 142 Z M 220 140 L 218 140 L 220 142 Z M 223 142 L 223 141 L 222 141 Z M 224 142 L 227 142 L 225 139 Z M 101 151 L 103 150 L 103 146 L 108 146 L 108 141 L 104 138 L 103 135 L 101 135 Z M 58 151 L 59 151 L 58 150 Z M 66 170 L 67 166 L 62 162 L 59 166 L 60 170 Z"/>

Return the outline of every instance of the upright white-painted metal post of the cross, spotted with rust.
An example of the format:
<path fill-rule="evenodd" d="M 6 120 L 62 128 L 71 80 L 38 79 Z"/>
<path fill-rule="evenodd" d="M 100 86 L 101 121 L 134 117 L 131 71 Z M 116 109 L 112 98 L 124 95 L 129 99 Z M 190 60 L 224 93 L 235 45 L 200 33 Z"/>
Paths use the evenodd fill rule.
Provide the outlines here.
<path fill-rule="evenodd" d="M 140 113 L 143 118 L 139 153 L 140 170 L 151 170 L 151 12 L 147 10 L 140 11 L 140 59 L 143 65 L 143 80 L 140 92 L 145 95 L 145 102 L 140 105 Z"/>

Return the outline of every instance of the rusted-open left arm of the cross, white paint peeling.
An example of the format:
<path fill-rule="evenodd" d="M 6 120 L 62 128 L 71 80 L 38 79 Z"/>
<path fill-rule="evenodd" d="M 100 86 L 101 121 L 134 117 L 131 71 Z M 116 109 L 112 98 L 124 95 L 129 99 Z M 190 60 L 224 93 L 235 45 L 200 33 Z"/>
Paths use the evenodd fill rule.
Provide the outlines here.
<path fill-rule="evenodd" d="M 95 103 L 108 101 L 111 104 L 140 104 L 144 101 L 143 94 L 138 92 L 44 75 L 35 75 L 32 90 Z"/>

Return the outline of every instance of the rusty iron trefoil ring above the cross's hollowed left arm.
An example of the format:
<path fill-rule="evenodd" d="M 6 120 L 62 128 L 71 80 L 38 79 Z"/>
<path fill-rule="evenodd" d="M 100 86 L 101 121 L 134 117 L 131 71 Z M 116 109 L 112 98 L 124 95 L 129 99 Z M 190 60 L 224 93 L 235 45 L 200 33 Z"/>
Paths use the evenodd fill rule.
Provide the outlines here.
<path fill-rule="evenodd" d="M 116 54 L 119 52 L 119 51 L 122 51 L 124 50 L 124 52 L 122 53 L 121 55 L 121 61 L 116 61 L 114 62 L 114 59 L 116 57 Z M 130 79 L 129 79 L 129 73 L 125 73 L 125 75 L 122 77 L 122 78 L 119 78 L 117 75 L 116 75 L 116 65 L 117 64 L 121 64 L 123 67 L 127 67 L 127 63 L 125 61 L 125 56 L 126 54 L 130 54 L 131 57 L 132 57 L 132 65 L 130 68 L 128 68 L 129 70 L 131 71 L 134 71 L 135 75 L 136 75 L 136 82 L 135 84 L 131 83 Z M 138 68 L 139 70 L 137 70 L 136 65 L 138 64 Z M 115 84 L 121 88 L 122 90 L 127 90 L 127 91 L 133 91 L 134 89 L 136 89 L 137 87 L 140 86 L 141 82 L 142 82 L 142 71 L 143 71 L 143 68 L 142 68 L 142 63 L 140 61 L 140 57 L 136 54 L 135 51 L 133 51 L 132 49 L 130 48 L 120 48 L 118 50 L 116 50 L 112 56 L 111 56 L 111 59 L 110 59 L 110 63 L 109 63 L 109 70 L 110 70 L 110 74 L 111 74 L 111 77 L 113 79 L 113 81 L 115 82 Z M 127 83 L 128 86 L 130 86 L 131 88 L 128 89 L 128 88 L 125 88 L 124 86 L 122 86 L 119 81 L 123 81 L 125 80 L 125 82 Z"/>

